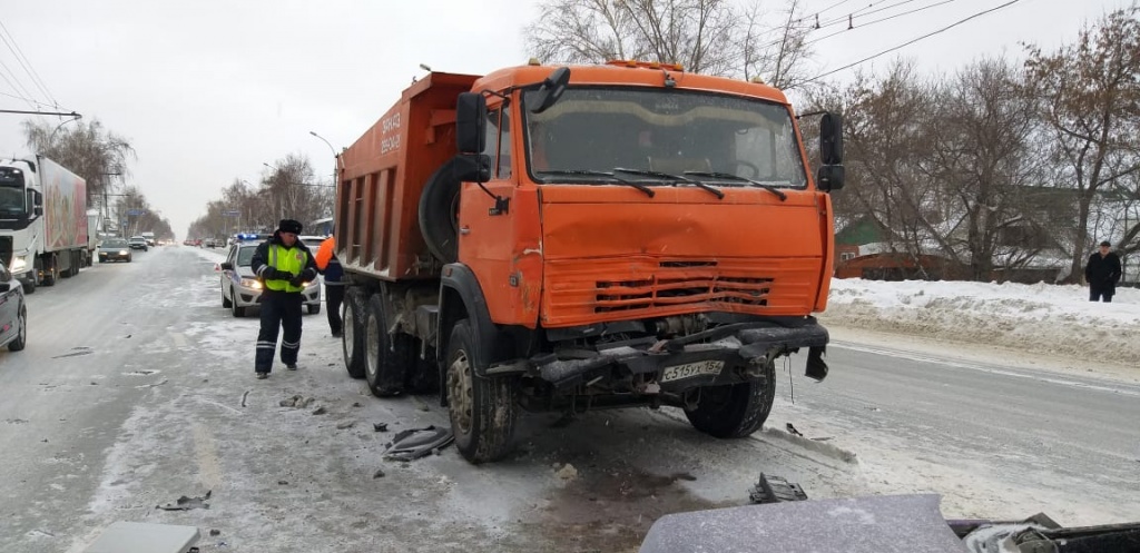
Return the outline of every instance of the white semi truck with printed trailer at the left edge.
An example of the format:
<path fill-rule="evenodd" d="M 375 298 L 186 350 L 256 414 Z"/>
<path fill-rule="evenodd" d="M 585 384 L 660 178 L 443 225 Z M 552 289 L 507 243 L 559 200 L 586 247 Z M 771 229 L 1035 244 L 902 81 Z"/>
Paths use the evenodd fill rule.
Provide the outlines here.
<path fill-rule="evenodd" d="M 0 162 L 0 259 L 24 291 L 89 265 L 87 181 L 42 156 Z"/>

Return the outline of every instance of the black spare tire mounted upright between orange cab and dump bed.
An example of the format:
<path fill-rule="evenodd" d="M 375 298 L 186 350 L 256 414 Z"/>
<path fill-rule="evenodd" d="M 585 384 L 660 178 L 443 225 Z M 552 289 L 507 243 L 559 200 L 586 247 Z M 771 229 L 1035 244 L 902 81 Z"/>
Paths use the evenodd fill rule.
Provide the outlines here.
<path fill-rule="evenodd" d="M 484 155 L 457 155 L 440 165 L 420 195 L 420 231 L 427 250 L 443 263 L 459 259 L 459 185 L 489 178 Z"/>

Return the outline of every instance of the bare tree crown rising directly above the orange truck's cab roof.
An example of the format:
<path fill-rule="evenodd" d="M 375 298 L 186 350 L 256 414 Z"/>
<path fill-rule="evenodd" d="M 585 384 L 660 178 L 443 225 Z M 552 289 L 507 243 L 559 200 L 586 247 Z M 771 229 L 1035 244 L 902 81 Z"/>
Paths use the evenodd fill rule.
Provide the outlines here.
<path fill-rule="evenodd" d="M 758 0 L 548 0 L 526 30 L 527 47 L 549 63 L 638 59 L 711 75 L 764 76 L 789 88 L 809 54 L 811 30 L 790 0 L 765 24 Z"/>

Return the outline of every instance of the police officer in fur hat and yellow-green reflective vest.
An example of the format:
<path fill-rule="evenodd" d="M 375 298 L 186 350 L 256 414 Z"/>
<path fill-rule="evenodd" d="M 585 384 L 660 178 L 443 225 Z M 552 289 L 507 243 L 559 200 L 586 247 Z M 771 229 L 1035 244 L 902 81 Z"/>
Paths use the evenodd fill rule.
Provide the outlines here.
<path fill-rule="evenodd" d="M 258 352 L 253 369 L 258 379 L 269 377 L 277 349 L 277 328 L 285 330 L 282 338 L 282 363 L 296 371 L 301 350 L 301 307 L 304 302 L 304 283 L 317 278 L 317 267 L 304 243 L 298 239 L 301 223 L 282 219 L 277 231 L 258 245 L 251 266 L 264 283 L 261 292 L 261 331 L 258 332 Z"/>

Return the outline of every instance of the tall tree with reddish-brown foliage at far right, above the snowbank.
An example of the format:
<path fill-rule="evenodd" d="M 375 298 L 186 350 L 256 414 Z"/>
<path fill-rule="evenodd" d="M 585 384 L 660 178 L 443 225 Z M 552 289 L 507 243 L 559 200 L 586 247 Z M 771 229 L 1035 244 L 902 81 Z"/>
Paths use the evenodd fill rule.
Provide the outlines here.
<path fill-rule="evenodd" d="M 1092 204 L 1100 190 L 1140 171 L 1140 8 L 1133 5 L 1086 26 L 1053 52 L 1029 47 L 1026 67 L 1051 130 L 1060 179 L 1077 197 L 1070 280 L 1082 275 Z"/>

